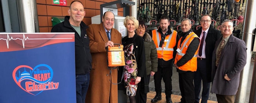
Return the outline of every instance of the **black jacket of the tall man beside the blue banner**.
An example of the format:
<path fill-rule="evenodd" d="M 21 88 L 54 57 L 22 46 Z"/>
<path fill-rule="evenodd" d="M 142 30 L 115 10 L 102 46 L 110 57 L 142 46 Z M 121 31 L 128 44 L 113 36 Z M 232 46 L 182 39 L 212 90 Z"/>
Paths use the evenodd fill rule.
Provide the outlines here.
<path fill-rule="evenodd" d="M 89 38 L 86 34 L 88 26 L 82 21 L 80 23 L 81 37 L 69 23 L 70 16 L 66 16 L 64 21 L 53 26 L 51 32 L 74 32 L 75 37 L 75 63 L 76 74 L 87 74 L 92 70 L 92 56 L 89 47 Z M 74 62 L 74 61 L 70 61 Z"/>

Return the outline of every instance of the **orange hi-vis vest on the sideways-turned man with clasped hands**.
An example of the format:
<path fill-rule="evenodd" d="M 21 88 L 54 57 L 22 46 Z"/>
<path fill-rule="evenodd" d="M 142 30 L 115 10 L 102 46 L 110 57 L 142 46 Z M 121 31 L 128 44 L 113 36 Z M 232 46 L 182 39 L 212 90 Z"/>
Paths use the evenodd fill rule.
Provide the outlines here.
<path fill-rule="evenodd" d="M 184 41 L 182 42 L 181 45 L 180 45 L 180 41 L 181 41 L 182 37 L 180 38 L 177 48 L 179 48 L 181 52 L 180 53 L 177 52 L 175 60 L 174 60 L 174 64 L 176 64 L 177 61 L 179 61 L 186 54 L 187 48 L 188 48 L 189 44 L 192 42 L 192 40 L 194 38 L 198 38 L 198 36 L 194 32 L 189 33 L 189 35 L 184 39 Z M 198 49 L 199 48 L 197 48 L 197 50 L 195 52 L 195 55 L 192 57 L 192 59 L 187 61 L 186 64 L 180 66 L 179 70 L 182 70 L 182 71 L 196 71 L 196 69 L 197 69 L 197 52 L 198 52 Z"/>

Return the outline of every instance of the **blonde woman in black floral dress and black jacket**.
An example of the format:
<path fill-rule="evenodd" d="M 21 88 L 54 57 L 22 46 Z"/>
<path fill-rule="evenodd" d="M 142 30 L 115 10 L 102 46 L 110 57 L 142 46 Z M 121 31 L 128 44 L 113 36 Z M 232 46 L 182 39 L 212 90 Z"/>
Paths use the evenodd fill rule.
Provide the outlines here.
<path fill-rule="evenodd" d="M 144 84 L 141 81 L 144 82 L 142 78 L 146 75 L 145 48 L 142 37 L 134 32 L 139 26 L 139 21 L 127 16 L 124 19 L 124 26 L 128 31 L 128 35 L 122 40 L 126 62 L 123 70 L 124 94 L 129 96 L 130 103 L 139 103 L 137 90 L 144 86 L 140 84 Z"/>

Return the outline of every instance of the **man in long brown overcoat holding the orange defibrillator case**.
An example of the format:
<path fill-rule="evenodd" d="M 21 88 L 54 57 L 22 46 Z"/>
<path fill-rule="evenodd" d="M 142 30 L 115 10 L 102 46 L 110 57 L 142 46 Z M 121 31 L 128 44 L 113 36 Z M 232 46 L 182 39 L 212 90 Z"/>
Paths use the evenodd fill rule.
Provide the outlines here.
<path fill-rule="evenodd" d="M 122 35 L 113 28 L 114 14 L 104 13 L 101 24 L 87 29 L 92 54 L 92 71 L 86 103 L 117 103 L 117 69 L 108 69 L 107 46 L 122 44 Z"/>

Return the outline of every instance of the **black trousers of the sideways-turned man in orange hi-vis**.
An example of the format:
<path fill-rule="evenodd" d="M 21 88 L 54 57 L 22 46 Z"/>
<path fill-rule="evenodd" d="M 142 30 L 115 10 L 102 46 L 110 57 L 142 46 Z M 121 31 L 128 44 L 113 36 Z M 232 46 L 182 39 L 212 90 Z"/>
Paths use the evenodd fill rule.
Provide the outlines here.
<path fill-rule="evenodd" d="M 195 89 L 193 84 L 195 72 L 179 73 L 179 85 L 182 98 L 181 103 L 195 102 Z"/>

